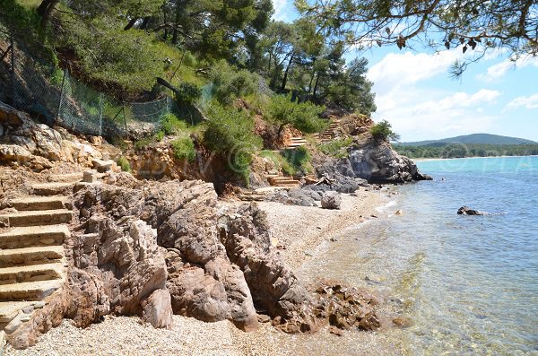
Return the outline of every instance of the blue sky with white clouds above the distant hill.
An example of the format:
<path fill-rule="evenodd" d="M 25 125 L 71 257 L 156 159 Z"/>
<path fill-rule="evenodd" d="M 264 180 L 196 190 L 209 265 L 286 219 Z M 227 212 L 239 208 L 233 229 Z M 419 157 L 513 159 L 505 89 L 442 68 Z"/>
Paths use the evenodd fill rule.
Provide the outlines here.
<path fill-rule="evenodd" d="M 293 0 L 273 0 L 273 18 L 297 17 Z M 466 56 L 473 56 L 469 50 Z M 350 53 L 369 60 L 377 111 L 402 142 L 487 133 L 538 142 L 538 57 L 513 63 L 502 52 L 488 54 L 450 78 L 449 67 L 463 58 L 462 48 L 399 50 L 395 46 Z"/>

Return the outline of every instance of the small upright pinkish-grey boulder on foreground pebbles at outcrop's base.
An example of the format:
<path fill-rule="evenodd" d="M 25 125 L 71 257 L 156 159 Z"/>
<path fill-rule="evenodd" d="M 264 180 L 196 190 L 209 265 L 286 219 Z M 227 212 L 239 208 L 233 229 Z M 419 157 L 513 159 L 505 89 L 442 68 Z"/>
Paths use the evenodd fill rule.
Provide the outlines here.
<path fill-rule="evenodd" d="M 156 328 L 172 326 L 172 305 L 168 290 L 153 291 L 152 295 L 142 302 L 143 320 Z"/>

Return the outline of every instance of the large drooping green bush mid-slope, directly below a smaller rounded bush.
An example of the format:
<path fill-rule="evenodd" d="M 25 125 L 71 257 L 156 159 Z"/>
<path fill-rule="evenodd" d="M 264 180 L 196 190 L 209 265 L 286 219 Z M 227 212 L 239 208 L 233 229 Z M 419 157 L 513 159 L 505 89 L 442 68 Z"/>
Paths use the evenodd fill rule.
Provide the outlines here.
<path fill-rule="evenodd" d="M 252 155 L 262 147 L 262 140 L 253 134 L 254 120 L 237 109 L 210 105 L 204 143 L 213 152 L 228 157 L 229 168 L 247 181 Z"/>

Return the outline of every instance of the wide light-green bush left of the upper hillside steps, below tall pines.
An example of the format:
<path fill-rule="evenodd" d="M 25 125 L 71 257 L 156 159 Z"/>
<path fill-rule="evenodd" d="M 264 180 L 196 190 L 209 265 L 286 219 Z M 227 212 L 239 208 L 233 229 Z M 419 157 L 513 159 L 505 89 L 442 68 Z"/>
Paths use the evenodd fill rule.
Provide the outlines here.
<path fill-rule="evenodd" d="M 325 120 L 319 116 L 325 111 L 325 107 L 317 106 L 309 101 L 297 102 L 291 100 L 291 94 L 274 95 L 267 109 L 267 119 L 279 125 L 279 132 L 286 125 L 291 125 L 298 130 L 311 134 L 323 131 L 327 126 Z"/>

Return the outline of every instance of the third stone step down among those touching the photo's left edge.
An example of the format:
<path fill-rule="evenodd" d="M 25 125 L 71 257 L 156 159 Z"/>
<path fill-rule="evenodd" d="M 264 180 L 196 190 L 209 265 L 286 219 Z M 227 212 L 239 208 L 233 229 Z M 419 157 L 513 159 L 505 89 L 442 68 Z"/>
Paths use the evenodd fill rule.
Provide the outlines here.
<path fill-rule="evenodd" d="M 0 268 L 43 265 L 64 258 L 63 246 L 24 247 L 0 250 Z"/>

